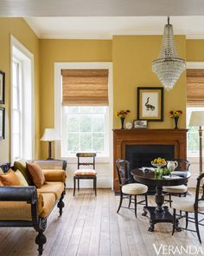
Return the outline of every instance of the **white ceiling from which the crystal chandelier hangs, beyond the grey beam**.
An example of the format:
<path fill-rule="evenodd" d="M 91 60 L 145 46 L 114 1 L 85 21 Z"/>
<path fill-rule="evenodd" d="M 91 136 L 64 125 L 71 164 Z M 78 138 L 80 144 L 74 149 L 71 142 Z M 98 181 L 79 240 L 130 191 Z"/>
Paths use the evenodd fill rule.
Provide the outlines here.
<path fill-rule="evenodd" d="M 204 1 L 203 1 L 204 2 Z M 27 17 L 40 38 L 111 39 L 113 35 L 163 34 L 166 16 Z M 171 16 L 175 34 L 204 38 L 204 16 Z"/>

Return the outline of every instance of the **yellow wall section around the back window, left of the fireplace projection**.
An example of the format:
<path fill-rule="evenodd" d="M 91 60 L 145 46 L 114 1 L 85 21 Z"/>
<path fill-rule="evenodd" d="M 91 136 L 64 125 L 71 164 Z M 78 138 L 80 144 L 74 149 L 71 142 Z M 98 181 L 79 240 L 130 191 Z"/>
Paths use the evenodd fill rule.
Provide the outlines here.
<path fill-rule="evenodd" d="M 54 62 L 111 62 L 111 40 L 41 40 L 41 135 L 54 128 Z M 48 143 L 41 142 L 41 157 L 48 157 Z"/>

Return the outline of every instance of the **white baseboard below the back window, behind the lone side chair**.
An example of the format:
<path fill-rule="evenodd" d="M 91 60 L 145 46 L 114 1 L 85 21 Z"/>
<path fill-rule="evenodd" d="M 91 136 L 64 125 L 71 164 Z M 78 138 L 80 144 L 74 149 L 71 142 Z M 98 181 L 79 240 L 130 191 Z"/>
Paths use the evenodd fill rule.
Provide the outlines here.
<path fill-rule="evenodd" d="M 77 184 L 76 184 L 77 186 Z M 73 188 L 73 176 L 67 177 L 67 188 Z M 92 180 L 80 180 L 81 188 L 92 188 Z M 112 188 L 112 176 L 97 176 L 98 188 Z"/>

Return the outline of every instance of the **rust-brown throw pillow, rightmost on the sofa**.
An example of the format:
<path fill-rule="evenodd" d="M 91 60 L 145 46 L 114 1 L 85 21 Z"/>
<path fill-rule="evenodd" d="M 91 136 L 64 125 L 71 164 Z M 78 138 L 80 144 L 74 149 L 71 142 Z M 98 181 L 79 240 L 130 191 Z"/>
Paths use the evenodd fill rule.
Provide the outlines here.
<path fill-rule="evenodd" d="M 41 188 L 45 183 L 45 176 L 41 171 L 41 167 L 36 162 L 27 163 L 27 167 L 29 169 L 29 174 L 32 176 L 35 187 Z"/>

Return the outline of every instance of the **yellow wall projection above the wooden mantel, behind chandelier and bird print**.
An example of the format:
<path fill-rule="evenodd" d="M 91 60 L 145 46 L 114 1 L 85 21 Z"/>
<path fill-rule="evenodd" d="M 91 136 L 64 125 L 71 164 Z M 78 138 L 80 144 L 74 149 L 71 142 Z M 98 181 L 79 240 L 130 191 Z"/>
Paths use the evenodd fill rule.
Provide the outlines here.
<path fill-rule="evenodd" d="M 137 87 L 161 86 L 152 72 L 151 62 L 156 59 L 161 48 L 161 36 L 113 36 L 113 102 L 114 113 L 130 109 L 127 120 L 137 118 Z M 175 36 L 178 54 L 186 58 L 185 36 Z M 181 109 L 183 115 L 179 128 L 186 126 L 186 75 L 185 72 L 176 82 L 174 89 L 164 90 L 164 121 L 150 121 L 149 128 L 174 128 L 169 111 Z M 114 128 L 120 128 L 118 117 L 114 116 Z"/>

